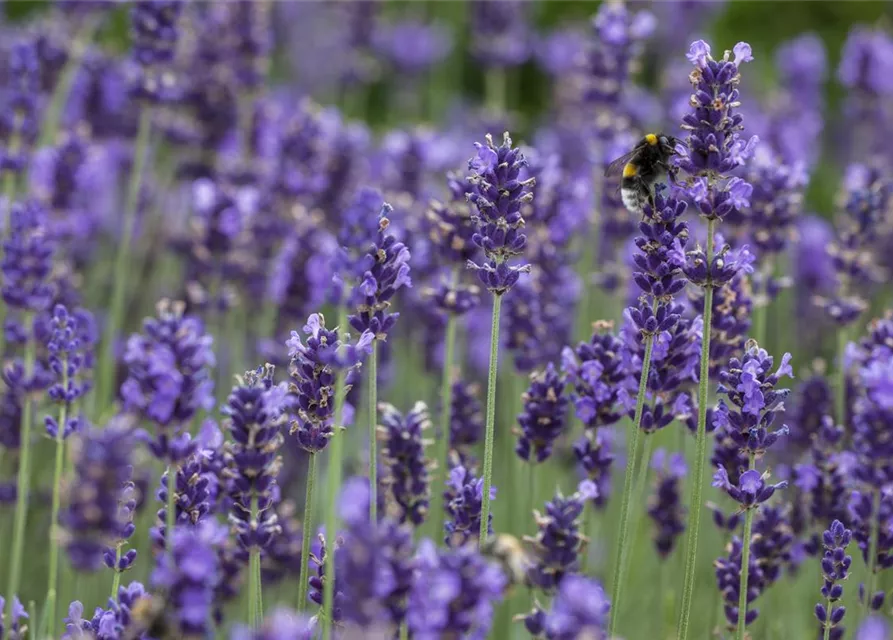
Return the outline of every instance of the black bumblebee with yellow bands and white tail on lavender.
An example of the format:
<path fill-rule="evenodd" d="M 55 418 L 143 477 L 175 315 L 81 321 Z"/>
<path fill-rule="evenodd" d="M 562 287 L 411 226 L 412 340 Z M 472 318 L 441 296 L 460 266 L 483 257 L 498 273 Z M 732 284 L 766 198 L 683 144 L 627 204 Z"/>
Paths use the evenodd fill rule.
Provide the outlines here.
<path fill-rule="evenodd" d="M 676 154 L 676 138 L 649 133 L 629 153 L 605 169 L 605 177 L 620 175 L 620 197 L 630 213 L 642 213 L 654 204 L 654 184 L 670 171 L 670 157 Z"/>

